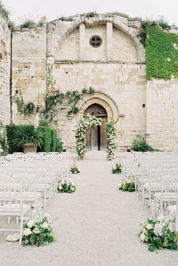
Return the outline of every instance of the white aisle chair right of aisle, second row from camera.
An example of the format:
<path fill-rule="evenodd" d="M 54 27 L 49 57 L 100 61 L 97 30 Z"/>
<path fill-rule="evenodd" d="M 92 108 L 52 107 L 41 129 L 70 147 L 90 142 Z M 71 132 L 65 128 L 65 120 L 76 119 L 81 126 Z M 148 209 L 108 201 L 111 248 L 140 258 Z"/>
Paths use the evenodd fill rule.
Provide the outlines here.
<path fill-rule="evenodd" d="M 177 186 L 178 186 L 178 175 L 163 176 L 161 178 L 161 192 L 156 192 L 154 194 L 154 199 L 156 198 L 160 202 L 160 211 L 163 213 L 163 204 L 177 201 Z"/>

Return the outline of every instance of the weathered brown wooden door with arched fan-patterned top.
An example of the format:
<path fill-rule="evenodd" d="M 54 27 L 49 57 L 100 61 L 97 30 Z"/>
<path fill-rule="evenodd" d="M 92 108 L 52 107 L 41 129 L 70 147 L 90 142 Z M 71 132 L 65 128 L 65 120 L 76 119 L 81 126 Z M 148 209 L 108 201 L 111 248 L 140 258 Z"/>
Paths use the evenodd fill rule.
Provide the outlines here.
<path fill-rule="evenodd" d="M 103 106 L 94 103 L 90 105 L 84 112 L 84 116 L 90 114 L 91 116 L 100 117 L 102 125 L 97 126 L 96 129 L 88 128 L 86 135 L 86 150 L 87 151 L 106 151 L 107 138 L 104 133 L 104 123 L 107 121 L 107 112 Z"/>

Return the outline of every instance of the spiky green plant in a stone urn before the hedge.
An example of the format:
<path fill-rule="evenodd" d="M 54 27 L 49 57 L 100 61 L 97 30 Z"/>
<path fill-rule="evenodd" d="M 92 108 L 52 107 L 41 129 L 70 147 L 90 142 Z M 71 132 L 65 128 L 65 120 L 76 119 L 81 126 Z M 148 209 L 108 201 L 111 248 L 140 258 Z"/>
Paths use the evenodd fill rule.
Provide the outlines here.
<path fill-rule="evenodd" d="M 42 128 L 34 128 L 33 125 L 19 125 L 15 129 L 13 140 L 16 148 L 23 148 L 23 153 L 36 152 L 37 146 L 41 148 L 45 141 L 45 131 Z"/>

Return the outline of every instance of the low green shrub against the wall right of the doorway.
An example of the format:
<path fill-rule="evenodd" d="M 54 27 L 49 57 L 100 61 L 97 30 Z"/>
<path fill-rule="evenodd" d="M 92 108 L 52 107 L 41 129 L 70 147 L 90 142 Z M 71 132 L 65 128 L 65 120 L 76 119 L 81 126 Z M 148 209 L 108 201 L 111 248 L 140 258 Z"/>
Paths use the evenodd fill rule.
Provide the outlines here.
<path fill-rule="evenodd" d="M 136 138 L 133 139 L 132 149 L 135 152 L 147 152 L 147 151 L 149 151 L 149 152 L 152 152 L 152 151 L 158 152 L 159 151 L 158 149 L 154 149 L 152 146 L 147 144 L 144 141 L 144 138 L 142 138 L 142 136 L 140 136 L 140 135 L 136 135 Z"/>

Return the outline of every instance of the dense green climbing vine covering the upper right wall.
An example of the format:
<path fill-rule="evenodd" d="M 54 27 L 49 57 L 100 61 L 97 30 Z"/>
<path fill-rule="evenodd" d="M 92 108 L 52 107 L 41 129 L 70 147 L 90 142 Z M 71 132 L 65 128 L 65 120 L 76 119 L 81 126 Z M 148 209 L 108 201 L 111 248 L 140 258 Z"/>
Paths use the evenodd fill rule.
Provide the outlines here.
<path fill-rule="evenodd" d="M 159 25 L 162 25 L 160 27 Z M 178 35 L 163 30 L 166 23 L 141 21 L 140 42 L 146 47 L 146 78 L 171 79 L 178 75 Z"/>

